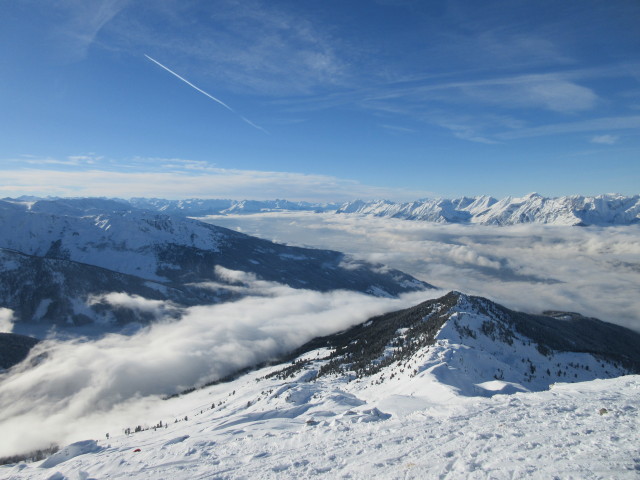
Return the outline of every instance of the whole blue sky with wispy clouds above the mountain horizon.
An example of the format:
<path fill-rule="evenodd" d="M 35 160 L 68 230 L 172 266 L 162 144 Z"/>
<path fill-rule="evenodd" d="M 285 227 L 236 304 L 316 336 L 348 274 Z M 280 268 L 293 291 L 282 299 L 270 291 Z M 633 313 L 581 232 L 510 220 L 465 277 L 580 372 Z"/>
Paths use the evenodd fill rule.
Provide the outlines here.
<path fill-rule="evenodd" d="M 636 0 L 0 7 L 0 196 L 639 193 Z"/>

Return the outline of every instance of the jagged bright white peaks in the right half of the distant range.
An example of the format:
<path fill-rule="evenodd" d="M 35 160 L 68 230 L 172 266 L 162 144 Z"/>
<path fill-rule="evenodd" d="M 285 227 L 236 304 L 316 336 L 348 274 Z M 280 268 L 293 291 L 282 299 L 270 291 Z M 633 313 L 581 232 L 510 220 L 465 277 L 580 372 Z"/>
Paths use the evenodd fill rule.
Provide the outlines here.
<path fill-rule="evenodd" d="M 640 195 L 567 196 L 546 198 L 532 193 L 524 197 L 496 200 L 481 196 L 455 200 L 421 200 L 411 203 L 355 201 L 342 205 L 338 213 L 360 213 L 440 223 L 515 225 L 629 225 L 640 222 Z"/>

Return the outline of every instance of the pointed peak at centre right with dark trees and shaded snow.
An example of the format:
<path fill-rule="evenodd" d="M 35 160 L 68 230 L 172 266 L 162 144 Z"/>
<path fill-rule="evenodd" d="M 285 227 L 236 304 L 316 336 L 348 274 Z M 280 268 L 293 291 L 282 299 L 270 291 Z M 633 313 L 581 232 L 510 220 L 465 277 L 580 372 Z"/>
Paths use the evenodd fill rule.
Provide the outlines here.
<path fill-rule="evenodd" d="M 491 396 L 503 387 L 537 391 L 558 381 L 638 373 L 639 347 L 637 333 L 596 319 L 530 315 L 450 292 L 314 340 L 296 355 L 329 349 L 319 377 L 379 384 L 405 377 L 413 382 L 424 373 L 459 394 Z M 490 388 L 483 386 L 487 382 L 493 382 Z"/>

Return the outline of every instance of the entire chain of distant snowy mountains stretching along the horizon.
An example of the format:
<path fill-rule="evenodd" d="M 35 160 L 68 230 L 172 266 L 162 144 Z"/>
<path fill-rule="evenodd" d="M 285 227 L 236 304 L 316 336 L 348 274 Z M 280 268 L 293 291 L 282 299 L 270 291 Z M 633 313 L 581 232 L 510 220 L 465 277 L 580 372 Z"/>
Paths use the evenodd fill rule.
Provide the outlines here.
<path fill-rule="evenodd" d="M 23 203 L 46 200 L 34 197 L 5 199 Z M 65 199 L 56 199 L 56 202 Z M 85 199 L 86 200 L 86 199 Z M 82 199 L 74 199 L 81 202 Z M 92 200 L 93 201 L 93 200 Z M 104 200 L 108 202 L 108 200 Z M 225 200 L 132 198 L 115 200 L 142 210 L 168 215 L 203 217 L 206 215 L 242 215 L 267 212 L 355 213 L 376 217 L 401 218 L 437 223 L 480 225 L 517 225 L 542 223 L 553 225 L 610 226 L 640 223 L 640 195 L 626 197 L 607 194 L 594 197 L 572 195 L 549 198 L 531 193 L 524 197 L 497 200 L 489 196 L 449 199 L 425 199 L 414 202 L 355 200 L 347 203 L 290 202 L 287 200 Z M 121 206 L 121 208 L 125 208 Z"/>

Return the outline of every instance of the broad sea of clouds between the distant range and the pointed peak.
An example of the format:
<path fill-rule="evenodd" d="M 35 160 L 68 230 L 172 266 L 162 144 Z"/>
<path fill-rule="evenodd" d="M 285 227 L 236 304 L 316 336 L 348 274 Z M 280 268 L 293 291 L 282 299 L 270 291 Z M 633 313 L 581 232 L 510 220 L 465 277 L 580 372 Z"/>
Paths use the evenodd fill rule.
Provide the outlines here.
<path fill-rule="evenodd" d="M 511 308 L 577 311 L 640 330 L 637 225 L 496 228 L 291 212 L 208 221 L 279 242 L 344 251 Z"/>

